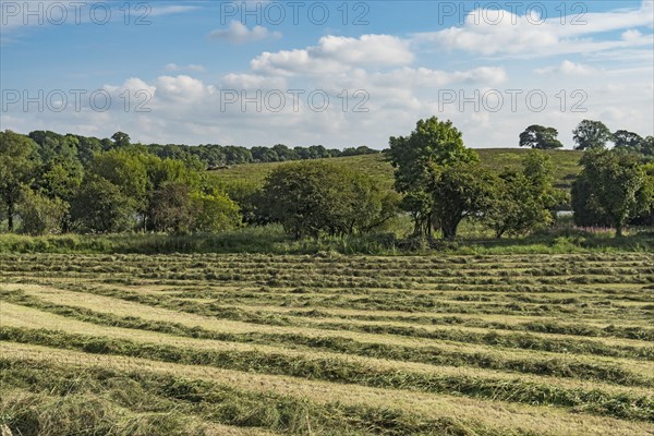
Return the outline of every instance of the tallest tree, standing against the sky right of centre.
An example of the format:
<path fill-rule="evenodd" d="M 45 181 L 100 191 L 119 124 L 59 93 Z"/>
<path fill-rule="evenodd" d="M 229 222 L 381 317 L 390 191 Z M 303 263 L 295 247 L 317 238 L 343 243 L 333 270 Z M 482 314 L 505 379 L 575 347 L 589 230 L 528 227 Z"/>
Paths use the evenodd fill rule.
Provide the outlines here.
<path fill-rule="evenodd" d="M 451 121 L 436 117 L 420 120 L 409 136 L 391 136 L 388 159 L 395 168 L 395 186 L 404 194 L 402 207 L 411 214 L 414 235 L 432 235 L 434 195 L 429 192 L 433 167 L 479 161 L 477 154 L 463 146 L 461 132 Z M 433 185 L 433 184 L 432 184 Z"/>

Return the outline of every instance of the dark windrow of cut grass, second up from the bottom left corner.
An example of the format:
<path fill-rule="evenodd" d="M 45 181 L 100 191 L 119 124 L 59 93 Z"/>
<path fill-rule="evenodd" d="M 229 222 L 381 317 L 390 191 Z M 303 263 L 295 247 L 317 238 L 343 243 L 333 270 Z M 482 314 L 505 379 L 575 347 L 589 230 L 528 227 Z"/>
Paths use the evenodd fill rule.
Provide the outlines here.
<path fill-rule="evenodd" d="M 16 327 L 1 327 L 0 340 L 371 387 L 434 393 L 457 392 L 472 398 L 574 408 L 584 413 L 654 423 L 653 396 L 609 393 L 600 389 L 565 388 L 553 384 L 530 383 L 519 378 L 477 378 L 464 374 L 448 375 L 445 372 L 417 373 L 399 368 L 383 370 L 365 366 L 354 361 L 303 359 L 300 355 L 264 354 L 258 351 L 208 351 Z"/>

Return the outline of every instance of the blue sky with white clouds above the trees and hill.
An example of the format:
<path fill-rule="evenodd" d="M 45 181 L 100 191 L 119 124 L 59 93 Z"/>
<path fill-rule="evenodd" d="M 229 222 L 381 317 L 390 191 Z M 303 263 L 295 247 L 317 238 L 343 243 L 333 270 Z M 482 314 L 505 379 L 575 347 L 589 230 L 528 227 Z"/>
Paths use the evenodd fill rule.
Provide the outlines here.
<path fill-rule="evenodd" d="M 654 133 L 654 0 L 0 0 L 1 130 L 383 149 L 420 119 L 474 148 L 584 119 Z"/>

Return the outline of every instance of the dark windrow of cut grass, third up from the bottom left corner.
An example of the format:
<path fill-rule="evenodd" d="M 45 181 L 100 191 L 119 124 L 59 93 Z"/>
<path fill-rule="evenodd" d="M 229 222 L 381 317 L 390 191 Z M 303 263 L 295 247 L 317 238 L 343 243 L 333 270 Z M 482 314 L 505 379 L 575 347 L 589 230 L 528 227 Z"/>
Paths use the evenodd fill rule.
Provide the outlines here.
<path fill-rule="evenodd" d="M 439 348 L 426 347 L 415 349 L 413 347 L 365 343 L 338 336 L 316 338 L 296 334 L 281 335 L 263 332 L 216 332 L 197 326 L 189 327 L 180 323 L 170 323 L 165 320 L 146 320 L 137 316 L 117 316 L 112 314 L 74 306 L 48 304 L 39 301 L 38 299 L 26 295 L 24 292 L 20 291 L 0 291 L 0 295 L 2 300 L 11 303 L 17 303 L 29 307 L 35 307 L 44 312 L 63 315 L 100 326 L 122 327 L 135 330 L 159 331 L 168 335 L 182 336 L 187 338 L 211 339 L 219 341 L 258 343 L 263 346 L 281 344 L 283 347 L 295 349 L 304 347 L 308 350 L 331 351 L 337 353 L 361 355 L 367 358 L 397 360 L 401 362 L 427 363 L 433 365 L 474 366 L 482 368 L 512 371 L 525 374 L 615 383 L 626 386 L 654 387 L 654 378 L 645 378 L 639 374 L 634 374 L 630 371 L 622 370 L 615 365 L 605 365 L 601 363 L 588 364 L 583 362 L 571 362 L 567 360 L 561 360 L 559 358 L 511 360 L 502 359 L 501 356 L 492 355 L 488 353 L 456 352 L 443 350 Z M 317 324 L 316 326 L 320 327 L 319 324 Z M 335 327 L 338 328 L 338 326 L 326 326 L 327 329 Z M 352 330 L 348 326 L 341 327 L 344 330 Z M 467 341 L 469 341 L 468 338 Z M 498 343 L 494 342 L 493 344 Z M 506 347 L 507 344 L 501 343 L 501 346 Z M 537 349 L 537 347 L 530 347 L 529 349 L 534 350 Z M 572 351 L 574 351 L 574 349 L 569 344 L 566 344 L 566 352 Z"/>

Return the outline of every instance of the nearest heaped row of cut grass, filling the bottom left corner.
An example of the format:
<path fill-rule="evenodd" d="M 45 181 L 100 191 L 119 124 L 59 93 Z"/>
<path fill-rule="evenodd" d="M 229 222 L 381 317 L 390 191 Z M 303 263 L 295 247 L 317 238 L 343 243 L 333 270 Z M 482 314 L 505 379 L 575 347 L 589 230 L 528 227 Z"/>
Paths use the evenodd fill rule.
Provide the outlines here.
<path fill-rule="evenodd" d="M 456 420 L 421 420 L 392 410 L 317 404 L 207 380 L 142 372 L 80 371 L 12 360 L 0 360 L 0 368 L 5 392 L 7 386 L 29 390 L 21 396 L 10 391 L 0 403 L 1 423 L 25 436 L 203 434 L 203 425 L 194 423 L 193 417 L 203 423 L 264 427 L 289 435 L 530 434 L 484 428 L 475 423 L 464 425 Z M 137 392 L 138 397 L 128 392 Z M 132 416 L 128 414 L 125 419 L 124 410 Z"/>

